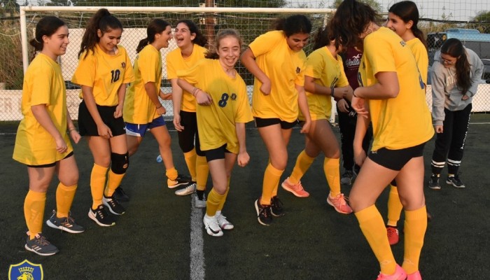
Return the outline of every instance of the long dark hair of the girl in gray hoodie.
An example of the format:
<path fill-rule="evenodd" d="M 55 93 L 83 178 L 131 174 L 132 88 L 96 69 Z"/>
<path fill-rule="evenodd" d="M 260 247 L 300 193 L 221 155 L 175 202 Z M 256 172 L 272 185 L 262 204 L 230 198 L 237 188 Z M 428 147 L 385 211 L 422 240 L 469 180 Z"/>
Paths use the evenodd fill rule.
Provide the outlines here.
<path fill-rule="evenodd" d="M 466 94 L 471 87 L 471 68 L 463 43 L 456 38 L 447 39 L 441 46 L 441 53 L 457 57 L 454 65 L 456 67 L 456 85 L 461 90 L 461 94 Z"/>

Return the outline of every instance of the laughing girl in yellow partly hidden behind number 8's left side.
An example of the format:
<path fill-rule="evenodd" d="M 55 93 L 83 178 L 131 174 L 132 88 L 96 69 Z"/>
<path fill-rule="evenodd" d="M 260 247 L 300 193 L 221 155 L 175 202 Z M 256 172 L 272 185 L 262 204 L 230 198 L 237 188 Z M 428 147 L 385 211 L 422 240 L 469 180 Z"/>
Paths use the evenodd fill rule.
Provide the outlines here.
<path fill-rule="evenodd" d="M 207 49 L 207 38 L 190 20 L 179 20 L 175 28 L 175 50 L 167 55 L 167 78 L 172 83 L 172 101 L 174 102 L 174 127 L 179 136 L 179 146 L 184 154 L 186 165 L 189 169 L 192 183 L 186 188 L 176 190 L 176 195 L 194 196 L 195 207 L 206 207 L 206 184 L 209 167 L 204 152 L 201 151 L 199 134 L 197 133 L 196 102 L 190 92 L 182 90 L 177 85 L 177 71 L 187 70 L 204 58 Z M 197 185 L 197 186 L 196 186 Z"/>

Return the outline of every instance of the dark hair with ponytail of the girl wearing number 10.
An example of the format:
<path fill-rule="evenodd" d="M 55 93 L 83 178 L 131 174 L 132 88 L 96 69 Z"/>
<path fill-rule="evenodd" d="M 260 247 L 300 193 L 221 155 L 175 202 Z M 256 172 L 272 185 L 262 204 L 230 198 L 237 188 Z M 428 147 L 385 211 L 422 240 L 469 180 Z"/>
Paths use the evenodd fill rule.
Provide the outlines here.
<path fill-rule="evenodd" d="M 95 45 L 99 43 L 99 36 L 97 36 L 97 30 L 102 32 L 104 35 L 114 29 L 120 29 L 123 31 L 123 24 L 115 16 L 109 13 L 109 10 L 102 8 L 97 10 L 97 13 L 92 15 L 92 18 L 87 23 L 87 28 L 83 34 L 82 43 L 80 45 L 80 51 L 78 52 L 78 57 L 85 53 L 85 57 L 88 55 L 88 51 L 92 50 L 94 52 Z"/>

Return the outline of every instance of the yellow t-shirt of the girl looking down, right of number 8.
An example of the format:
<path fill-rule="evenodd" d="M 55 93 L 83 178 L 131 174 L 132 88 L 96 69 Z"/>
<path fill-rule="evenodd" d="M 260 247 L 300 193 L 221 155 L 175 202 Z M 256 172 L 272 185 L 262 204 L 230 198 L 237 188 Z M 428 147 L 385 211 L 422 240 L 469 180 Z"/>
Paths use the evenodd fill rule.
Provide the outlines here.
<path fill-rule="evenodd" d="M 286 122 L 297 120 L 297 90 L 304 86 L 304 51 L 294 52 L 286 42 L 283 31 L 269 31 L 248 45 L 259 68 L 271 80 L 271 92 L 260 92 L 260 80 L 253 81 L 252 113 L 258 118 L 279 118 Z"/>

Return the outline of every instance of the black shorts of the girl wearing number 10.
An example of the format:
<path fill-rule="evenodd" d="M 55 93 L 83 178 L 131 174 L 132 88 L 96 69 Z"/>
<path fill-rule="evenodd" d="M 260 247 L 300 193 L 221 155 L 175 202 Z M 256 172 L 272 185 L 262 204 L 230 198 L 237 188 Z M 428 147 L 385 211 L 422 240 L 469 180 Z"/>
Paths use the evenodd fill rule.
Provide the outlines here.
<path fill-rule="evenodd" d="M 113 137 L 126 134 L 123 117 L 114 118 L 116 106 L 97 105 L 97 111 L 99 111 L 102 121 L 111 129 Z M 82 136 L 99 136 L 97 125 L 90 115 L 85 101 L 82 101 L 78 106 L 78 129 Z"/>

